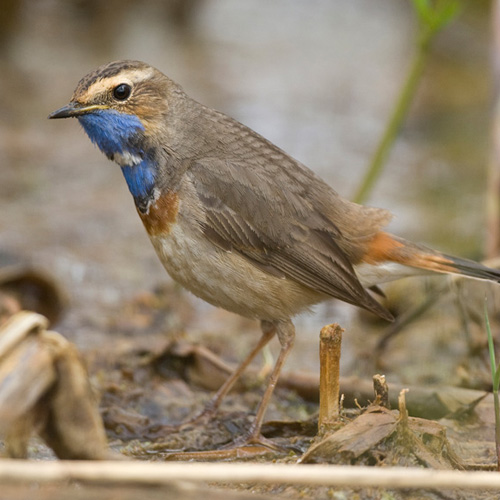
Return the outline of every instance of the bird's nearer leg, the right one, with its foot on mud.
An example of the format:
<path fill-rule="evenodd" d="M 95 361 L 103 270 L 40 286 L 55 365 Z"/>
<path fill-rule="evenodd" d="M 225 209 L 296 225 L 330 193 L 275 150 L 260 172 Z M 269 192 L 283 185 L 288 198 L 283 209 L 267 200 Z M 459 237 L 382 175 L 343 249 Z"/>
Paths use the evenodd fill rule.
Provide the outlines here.
<path fill-rule="evenodd" d="M 285 321 L 262 321 L 261 322 L 262 331 L 265 332 L 267 330 L 276 332 L 278 334 L 278 339 L 281 344 L 281 350 L 276 360 L 276 364 L 274 365 L 273 371 L 269 376 L 269 380 L 267 382 L 266 390 L 262 396 L 261 402 L 257 408 L 257 413 L 255 415 L 255 419 L 245 436 L 242 436 L 240 439 L 237 439 L 233 443 L 231 443 L 228 447 L 238 447 L 245 444 L 258 444 L 263 445 L 268 448 L 276 449 L 279 448 L 273 443 L 271 440 L 264 438 L 260 431 L 262 428 L 262 423 L 264 420 L 264 415 L 267 410 L 267 406 L 273 395 L 274 389 L 276 387 L 276 383 L 278 382 L 281 369 L 290 353 L 290 350 L 293 347 L 293 343 L 295 340 L 295 327 L 290 320 Z"/>

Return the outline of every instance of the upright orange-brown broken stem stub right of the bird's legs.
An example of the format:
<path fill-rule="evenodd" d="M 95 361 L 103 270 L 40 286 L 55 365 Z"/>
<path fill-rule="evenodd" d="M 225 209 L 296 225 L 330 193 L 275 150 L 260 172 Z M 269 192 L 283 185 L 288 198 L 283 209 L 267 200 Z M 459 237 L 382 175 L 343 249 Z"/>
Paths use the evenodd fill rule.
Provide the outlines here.
<path fill-rule="evenodd" d="M 338 324 L 333 323 L 323 327 L 319 336 L 319 431 L 336 423 L 339 418 L 340 350 L 343 332 Z"/>

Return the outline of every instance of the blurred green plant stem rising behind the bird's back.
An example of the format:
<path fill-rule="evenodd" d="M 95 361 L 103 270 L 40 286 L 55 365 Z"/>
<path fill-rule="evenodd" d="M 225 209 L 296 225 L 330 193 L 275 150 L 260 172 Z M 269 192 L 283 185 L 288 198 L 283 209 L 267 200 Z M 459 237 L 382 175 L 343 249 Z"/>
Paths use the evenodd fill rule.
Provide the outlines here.
<path fill-rule="evenodd" d="M 417 85 L 427 62 L 432 40 L 457 15 L 459 7 L 458 0 L 412 0 L 412 3 L 418 17 L 419 25 L 417 50 L 413 56 L 406 81 L 396 101 L 384 134 L 361 181 L 361 185 L 354 196 L 356 203 L 366 201 L 376 180 L 380 176 L 415 95 Z"/>

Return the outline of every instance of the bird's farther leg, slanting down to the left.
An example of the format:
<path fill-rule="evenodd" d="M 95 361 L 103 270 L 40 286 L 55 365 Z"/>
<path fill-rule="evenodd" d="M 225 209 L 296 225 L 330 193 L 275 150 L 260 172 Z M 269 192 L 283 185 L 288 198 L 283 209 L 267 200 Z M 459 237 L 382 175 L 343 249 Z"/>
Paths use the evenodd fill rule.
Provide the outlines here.
<path fill-rule="evenodd" d="M 264 326 L 266 323 L 266 326 Z M 248 356 L 241 362 L 241 364 L 236 368 L 236 370 L 226 379 L 226 381 L 219 387 L 219 390 L 212 396 L 210 401 L 205 405 L 205 408 L 193 418 L 189 419 L 183 425 L 199 423 L 207 421 L 214 416 L 217 412 L 222 400 L 227 396 L 228 392 L 233 388 L 234 384 L 241 377 L 242 373 L 246 370 L 248 365 L 257 356 L 257 354 L 262 350 L 262 348 L 269 343 L 269 341 L 276 334 L 276 327 L 273 323 L 262 322 L 262 336 L 259 339 L 257 345 L 252 349 Z M 279 334 L 279 333 L 278 333 Z M 272 391 L 271 391 L 272 392 Z"/>

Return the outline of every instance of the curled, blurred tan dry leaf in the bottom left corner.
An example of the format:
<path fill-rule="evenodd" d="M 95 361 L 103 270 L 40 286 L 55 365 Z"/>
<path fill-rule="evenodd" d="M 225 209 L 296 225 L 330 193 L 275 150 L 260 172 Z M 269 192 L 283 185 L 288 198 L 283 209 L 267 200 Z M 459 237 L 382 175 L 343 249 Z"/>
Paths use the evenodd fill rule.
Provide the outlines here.
<path fill-rule="evenodd" d="M 76 348 L 21 311 L 0 327 L 0 436 L 10 457 L 27 456 L 37 432 L 64 459 L 111 458 Z"/>

